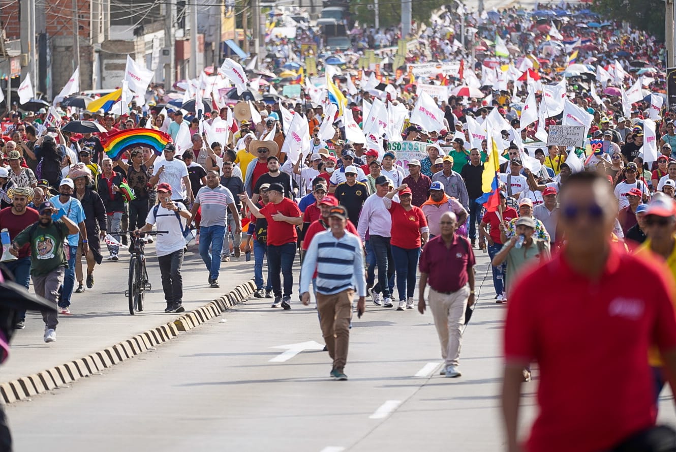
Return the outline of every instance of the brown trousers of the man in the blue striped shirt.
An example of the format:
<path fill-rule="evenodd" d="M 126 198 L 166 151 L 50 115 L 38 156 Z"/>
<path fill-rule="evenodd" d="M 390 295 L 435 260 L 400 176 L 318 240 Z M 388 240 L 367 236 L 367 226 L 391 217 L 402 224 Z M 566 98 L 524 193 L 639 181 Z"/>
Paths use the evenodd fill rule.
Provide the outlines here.
<path fill-rule="evenodd" d="M 343 371 L 347 362 L 353 295 L 352 289 L 333 295 L 316 294 L 322 336 L 333 359 L 333 368 L 339 371 Z"/>

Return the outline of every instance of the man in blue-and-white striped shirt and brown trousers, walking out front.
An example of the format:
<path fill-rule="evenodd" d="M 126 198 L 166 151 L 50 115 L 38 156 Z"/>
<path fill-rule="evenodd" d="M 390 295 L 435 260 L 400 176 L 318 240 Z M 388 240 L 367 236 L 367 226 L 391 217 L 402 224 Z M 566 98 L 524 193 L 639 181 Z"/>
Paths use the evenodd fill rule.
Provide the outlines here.
<path fill-rule="evenodd" d="M 312 238 L 300 273 L 301 301 L 310 304 L 310 282 L 317 272 L 317 309 L 322 336 L 333 359 L 331 378 L 347 380 L 343 372 L 349 345 L 349 321 L 352 319 L 352 297 L 359 294 L 357 313 L 362 317 L 366 303 L 364 255 L 362 242 L 347 231 L 347 210 L 331 208 L 330 229 Z"/>

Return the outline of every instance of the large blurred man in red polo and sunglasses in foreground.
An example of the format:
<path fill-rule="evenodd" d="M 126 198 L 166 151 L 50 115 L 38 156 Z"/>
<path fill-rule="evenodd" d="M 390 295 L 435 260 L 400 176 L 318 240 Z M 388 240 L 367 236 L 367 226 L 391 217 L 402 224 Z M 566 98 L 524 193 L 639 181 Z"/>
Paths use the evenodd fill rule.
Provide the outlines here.
<path fill-rule="evenodd" d="M 508 305 L 502 388 L 508 451 L 522 450 L 518 405 L 522 370 L 531 361 L 541 374 L 539 414 L 526 451 L 673 450 L 652 443 L 670 434 L 651 431 L 655 388 L 646 359 L 656 344 L 666 374 L 676 375 L 673 281 L 655 263 L 612 244 L 617 199 L 606 179 L 571 175 L 558 198 L 566 244 L 521 277 Z M 579 371 L 584 378 L 576 378 Z M 614 449 L 619 445 L 625 449 Z"/>

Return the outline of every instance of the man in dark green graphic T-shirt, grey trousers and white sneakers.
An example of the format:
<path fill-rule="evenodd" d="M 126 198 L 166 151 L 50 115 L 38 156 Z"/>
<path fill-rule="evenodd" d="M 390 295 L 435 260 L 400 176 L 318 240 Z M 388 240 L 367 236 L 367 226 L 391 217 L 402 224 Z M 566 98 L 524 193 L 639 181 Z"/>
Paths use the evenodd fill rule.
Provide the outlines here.
<path fill-rule="evenodd" d="M 38 208 L 39 220 L 21 231 L 11 242 L 12 255 L 17 258 L 24 245 L 30 246 L 30 276 L 35 294 L 45 298 L 55 306 L 59 300 L 59 289 L 64 284 L 64 273 L 68 269 L 68 259 L 64 244 L 70 235 L 80 233 L 76 223 L 68 218 L 51 201 L 43 202 Z M 45 322 L 45 342 L 55 342 L 56 326 L 59 324 L 57 311 L 43 312 Z"/>

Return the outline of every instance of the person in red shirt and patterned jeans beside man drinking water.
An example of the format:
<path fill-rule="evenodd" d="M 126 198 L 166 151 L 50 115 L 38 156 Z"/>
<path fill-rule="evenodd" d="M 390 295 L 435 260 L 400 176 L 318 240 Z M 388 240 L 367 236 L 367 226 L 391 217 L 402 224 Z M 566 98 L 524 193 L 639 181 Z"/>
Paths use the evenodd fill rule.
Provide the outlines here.
<path fill-rule="evenodd" d="M 502 211 L 502 225 L 507 225 L 511 219 L 518 217 L 516 210 L 507 207 L 507 194 L 500 191 L 500 210 Z M 500 240 L 500 210 L 496 212 L 486 212 L 481 219 L 479 225 L 479 248 L 486 246 L 488 240 L 488 255 L 493 261 L 493 257 L 502 250 L 502 240 Z M 490 226 L 489 231 L 486 231 L 486 226 Z M 491 267 L 493 270 L 493 288 L 496 289 L 496 303 L 506 301 L 504 293 L 504 277 L 507 269 L 506 263 L 498 265 L 498 267 Z"/>

